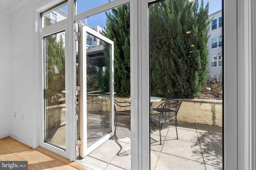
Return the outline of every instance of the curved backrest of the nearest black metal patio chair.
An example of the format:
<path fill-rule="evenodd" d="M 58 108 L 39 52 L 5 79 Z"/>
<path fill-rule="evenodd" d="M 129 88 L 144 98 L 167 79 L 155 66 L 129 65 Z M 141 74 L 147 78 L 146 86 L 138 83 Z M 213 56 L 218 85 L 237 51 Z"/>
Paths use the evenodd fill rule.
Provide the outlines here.
<path fill-rule="evenodd" d="M 166 114 L 169 117 L 177 116 L 181 103 L 181 99 L 167 100 L 166 102 L 162 103 L 161 113 Z"/>

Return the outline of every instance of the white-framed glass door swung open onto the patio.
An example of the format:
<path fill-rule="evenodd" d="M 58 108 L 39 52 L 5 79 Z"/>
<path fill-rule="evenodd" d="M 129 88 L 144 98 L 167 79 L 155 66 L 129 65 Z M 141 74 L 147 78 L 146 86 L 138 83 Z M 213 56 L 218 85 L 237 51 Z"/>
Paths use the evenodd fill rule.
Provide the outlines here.
<path fill-rule="evenodd" d="M 79 24 L 80 157 L 114 135 L 114 42 Z"/>

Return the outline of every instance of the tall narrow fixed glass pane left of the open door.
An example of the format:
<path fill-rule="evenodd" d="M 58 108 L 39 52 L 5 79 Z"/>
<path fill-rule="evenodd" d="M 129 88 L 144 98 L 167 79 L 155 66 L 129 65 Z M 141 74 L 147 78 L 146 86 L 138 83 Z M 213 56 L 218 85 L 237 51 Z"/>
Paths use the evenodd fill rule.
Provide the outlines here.
<path fill-rule="evenodd" d="M 65 31 L 44 37 L 44 141 L 66 149 Z"/>

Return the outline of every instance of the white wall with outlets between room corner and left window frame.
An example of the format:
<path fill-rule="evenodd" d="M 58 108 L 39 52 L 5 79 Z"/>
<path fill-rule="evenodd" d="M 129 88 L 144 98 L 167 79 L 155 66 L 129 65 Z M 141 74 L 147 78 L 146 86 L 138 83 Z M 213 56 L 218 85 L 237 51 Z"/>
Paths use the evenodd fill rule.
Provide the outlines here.
<path fill-rule="evenodd" d="M 34 55 L 34 5 L 30 1 L 10 13 L 10 136 L 33 145 L 33 119 L 38 116 L 35 100 L 39 76 L 38 56 Z M 22 120 L 22 113 L 24 120 Z"/>

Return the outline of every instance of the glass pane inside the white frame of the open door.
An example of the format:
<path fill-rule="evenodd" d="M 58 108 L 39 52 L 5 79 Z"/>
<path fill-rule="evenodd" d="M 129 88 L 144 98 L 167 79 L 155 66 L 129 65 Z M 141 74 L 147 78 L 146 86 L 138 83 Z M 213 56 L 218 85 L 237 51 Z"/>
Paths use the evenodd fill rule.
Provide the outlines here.
<path fill-rule="evenodd" d="M 94 39 L 96 41 L 92 41 Z M 110 92 L 111 45 L 90 33 L 87 33 L 86 43 L 87 147 L 89 147 L 111 132 L 110 96 L 106 95 Z"/>

